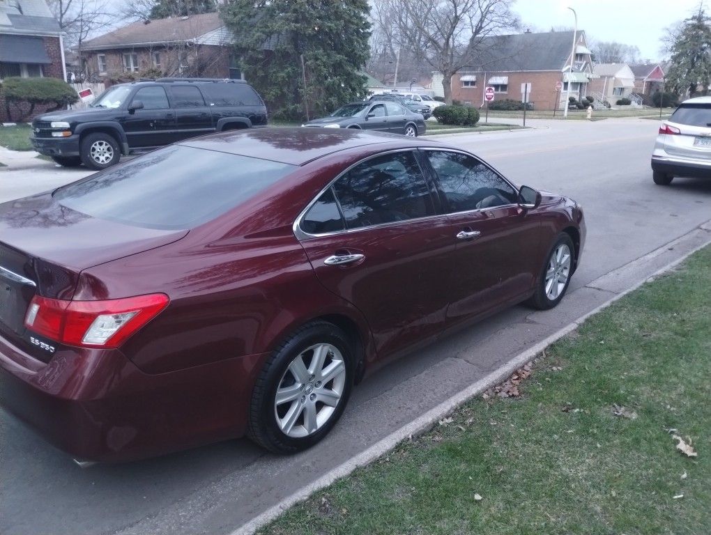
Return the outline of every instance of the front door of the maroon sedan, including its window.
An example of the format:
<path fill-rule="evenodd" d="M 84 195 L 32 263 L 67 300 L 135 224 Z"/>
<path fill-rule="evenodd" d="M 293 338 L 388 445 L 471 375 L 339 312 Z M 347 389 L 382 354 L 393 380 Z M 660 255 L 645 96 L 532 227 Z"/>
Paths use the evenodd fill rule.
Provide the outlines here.
<path fill-rule="evenodd" d="M 447 317 L 463 320 L 533 288 L 540 222 L 501 175 L 466 153 L 426 150 L 456 238 Z"/>

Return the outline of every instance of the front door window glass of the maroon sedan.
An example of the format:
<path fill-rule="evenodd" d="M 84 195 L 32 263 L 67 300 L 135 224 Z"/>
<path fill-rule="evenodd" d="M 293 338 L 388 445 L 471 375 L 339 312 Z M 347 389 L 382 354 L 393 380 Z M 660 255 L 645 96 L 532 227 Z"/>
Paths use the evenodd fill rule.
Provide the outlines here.
<path fill-rule="evenodd" d="M 515 204 L 516 191 L 484 163 L 466 154 L 426 151 L 449 213 Z"/>

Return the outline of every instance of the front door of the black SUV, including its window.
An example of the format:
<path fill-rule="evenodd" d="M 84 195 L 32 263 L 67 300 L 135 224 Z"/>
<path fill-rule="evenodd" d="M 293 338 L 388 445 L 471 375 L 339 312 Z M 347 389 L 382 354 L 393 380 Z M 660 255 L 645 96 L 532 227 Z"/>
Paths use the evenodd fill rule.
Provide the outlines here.
<path fill-rule="evenodd" d="M 143 108 L 129 112 L 123 120 L 129 147 L 168 145 L 176 141 L 176 116 L 163 87 L 141 87 L 129 107 L 133 102 L 142 102 Z"/>

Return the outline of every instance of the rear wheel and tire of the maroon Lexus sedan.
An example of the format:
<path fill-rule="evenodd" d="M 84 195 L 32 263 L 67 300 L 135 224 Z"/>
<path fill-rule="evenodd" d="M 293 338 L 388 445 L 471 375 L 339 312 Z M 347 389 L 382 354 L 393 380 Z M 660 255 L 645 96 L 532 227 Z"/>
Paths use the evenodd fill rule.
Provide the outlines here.
<path fill-rule="evenodd" d="M 257 377 L 247 435 L 274 453 L 296 453 L 321 441 L 353 388 L 353 345 L 331 323 L 314 321 L 270 355 Z"/>

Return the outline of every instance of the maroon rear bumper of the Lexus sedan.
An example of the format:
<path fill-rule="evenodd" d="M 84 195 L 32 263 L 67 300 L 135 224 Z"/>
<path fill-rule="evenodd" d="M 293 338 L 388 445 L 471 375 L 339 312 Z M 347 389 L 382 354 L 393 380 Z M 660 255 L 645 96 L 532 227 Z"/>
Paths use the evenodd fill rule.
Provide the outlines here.
<path fill-rule="evenodd" d="M 82 460 L 132 460 L 242 436 L 251 389 L 240 357 L 144 374 L 119 350 L 40 362 L 0 337 L 0 403 Z"/>

